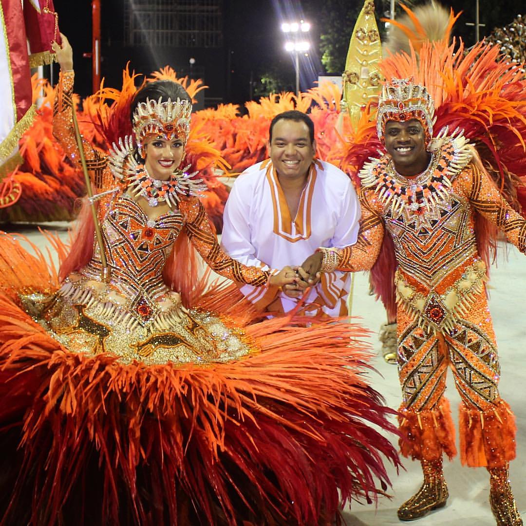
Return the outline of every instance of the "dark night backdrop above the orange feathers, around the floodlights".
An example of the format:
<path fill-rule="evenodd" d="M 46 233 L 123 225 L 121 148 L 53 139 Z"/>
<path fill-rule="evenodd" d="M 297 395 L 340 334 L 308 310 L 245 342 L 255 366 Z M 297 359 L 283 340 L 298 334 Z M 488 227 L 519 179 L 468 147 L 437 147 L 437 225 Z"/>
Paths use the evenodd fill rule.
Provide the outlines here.
<path fill-rule="evenodd" d="M 526 5 L 518 6 L 514 0 L 479 3 L 480 22 L 485 24 L 481 37 L 526 11 Z M 389 0 L 376 4 L 379 18 L 388 11 Z M 466 22 L 475 19 L 474 2 L 450 0 L 450 4 L 455 12 L 463 10 L 455 34 L 473 44 L 474 29 Z M 83 57 L 92 48 L 91 2 L 54 0 L 54 5 L 60 30 L 74 49 L 75 89 L 86 96 L 93 93 L 91 59 Z M 340 59 L 331 63 L 345 64 L 362 5 L 362 0 L 101 0 L 102 76 L 106 86 L 118 88 L 128 61 L 131 69 L 147 75 L 170 65 L 178 76 L 204 80 L 208 89 L 199 107 L 242 104 L 269 89 L 294 90 L 294 66 L 284 50 L 280 24 L 305 18 L 312 25 L 311 49 L 300 57 L 301 87 L 307 89 L 325 73 L 320 55 L 332 53 Z M 55 66 L 55 78 L 56 71 Z"/>

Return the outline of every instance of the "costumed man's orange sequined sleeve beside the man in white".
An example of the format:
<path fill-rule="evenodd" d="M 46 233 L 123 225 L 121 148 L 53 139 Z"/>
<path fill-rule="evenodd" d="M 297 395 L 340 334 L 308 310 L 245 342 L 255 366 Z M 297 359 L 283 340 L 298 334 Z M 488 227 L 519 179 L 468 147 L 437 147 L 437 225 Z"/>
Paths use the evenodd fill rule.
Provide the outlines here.
<path fill-rule="evenodd" d="M 380 203 L 372 190 L 360 189 L 361 218 L 355 245 L 337 252 L 336 270 L 357 272 L 370 270 L 380 253 L 383 241 L 383 219 Z"/>

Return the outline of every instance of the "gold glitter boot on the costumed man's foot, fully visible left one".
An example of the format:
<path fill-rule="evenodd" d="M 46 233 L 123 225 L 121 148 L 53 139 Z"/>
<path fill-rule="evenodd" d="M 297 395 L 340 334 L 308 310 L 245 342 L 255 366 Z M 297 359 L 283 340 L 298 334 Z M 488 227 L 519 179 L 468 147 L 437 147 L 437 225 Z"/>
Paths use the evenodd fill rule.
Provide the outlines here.
<path fill-rule="evenodd" d="M 422 460 L 422 471 L 422 487 L 398 509 L 398 518 L 401 521 L 420 519 L 430 511 L 446 505 L 449 492 L 442 472 L 442 458 L 434 461 Z"/>

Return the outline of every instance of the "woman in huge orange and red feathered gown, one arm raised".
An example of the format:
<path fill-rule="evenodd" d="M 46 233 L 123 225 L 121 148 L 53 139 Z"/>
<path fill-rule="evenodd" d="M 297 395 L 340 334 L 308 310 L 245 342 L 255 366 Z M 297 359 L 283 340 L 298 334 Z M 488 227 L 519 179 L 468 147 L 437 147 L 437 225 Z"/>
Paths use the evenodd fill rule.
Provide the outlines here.
<path fill-rule="evenodd" d="M 55 133 L 77 162 L 64 41 Z M 109 271 L 93 220 L 68 255 L 56 242 L 60 277 L 2 238 L 3 523 L 323 524 L 351 497 L 375 499 L 383 460 L 398 460 L 369 426 L 392 429 L 363 378 L 363 331 L 249 325 L 231 289 L 197 290 L 188 240 L 224 276 L 290 278 L 219 249 L 199 181 L 179 167 L 184 90 L 153 82 L 125 98 L 106 115 L 130 131 L 112 155 L 84 145 Z"/>

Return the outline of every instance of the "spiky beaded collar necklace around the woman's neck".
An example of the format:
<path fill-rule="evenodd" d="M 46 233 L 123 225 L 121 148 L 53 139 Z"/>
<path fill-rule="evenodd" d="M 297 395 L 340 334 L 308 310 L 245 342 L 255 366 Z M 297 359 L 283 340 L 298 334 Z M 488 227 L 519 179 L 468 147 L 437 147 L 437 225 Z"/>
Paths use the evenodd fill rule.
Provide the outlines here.
<path fill-rule="evenodd" d="M 177 169 L 171 175 L 170 179 L 163 181 L 154 179 L 148 174 L 146 167 L 143 164 L 138 164 L 135 167 L 134 173 L 127 177 L 130 181 L 131 192 L 134 196 L 143 196 L 149 206 L 157 206 L 159 203 L 166 202 L 171 207 L 176 207 L 179 203 L 180 196 L 198 196 L 201 191 L 206 189 L 203 184 L 203 179 L 193 179 L 197 174 L 188 173 L 186 170 L 190 168 L 188 165 L 184 170 Z"/>

